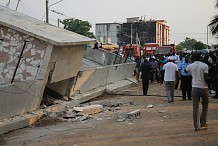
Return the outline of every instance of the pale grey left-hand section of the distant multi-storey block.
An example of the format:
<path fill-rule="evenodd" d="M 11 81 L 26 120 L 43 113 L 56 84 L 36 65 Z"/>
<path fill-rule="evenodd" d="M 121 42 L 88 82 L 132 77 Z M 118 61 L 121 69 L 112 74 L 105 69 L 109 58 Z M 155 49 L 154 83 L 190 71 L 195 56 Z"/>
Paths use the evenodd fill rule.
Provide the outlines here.
<path fill-rule="evenodd" d="M 103 44 L 117 44 L 120 40 L 120 23 L 96 24 L 96 40 Z"/>

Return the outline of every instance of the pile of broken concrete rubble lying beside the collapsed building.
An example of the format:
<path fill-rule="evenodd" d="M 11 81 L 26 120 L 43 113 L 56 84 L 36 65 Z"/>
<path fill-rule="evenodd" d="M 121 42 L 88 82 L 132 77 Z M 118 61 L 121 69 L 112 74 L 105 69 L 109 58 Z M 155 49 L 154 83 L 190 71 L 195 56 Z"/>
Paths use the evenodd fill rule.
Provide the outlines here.
<path fill-rule="evenodd" d="M 63 122 L 87 122 L 90 119 L 113 119 L 116 122 L 141 118 L 141 111 L 126 112 L 121 106 L 134 106 L 134 102 L 122 104 L 116 100 L 93 101 L 80 106 L 65 107 L 61 112 L 45 112 L 47 119 Z"/>

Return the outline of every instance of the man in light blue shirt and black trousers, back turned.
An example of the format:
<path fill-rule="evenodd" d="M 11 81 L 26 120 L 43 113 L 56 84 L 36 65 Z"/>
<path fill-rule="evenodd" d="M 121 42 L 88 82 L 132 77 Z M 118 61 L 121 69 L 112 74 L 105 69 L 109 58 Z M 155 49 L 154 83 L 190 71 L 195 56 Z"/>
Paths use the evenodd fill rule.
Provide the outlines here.
<path fill-rule="evenodd" d="M 192 76 L 191 72 L 185 72 L 186 67 L 190 64 L 189 56 L 185 56 L 185 60 L 178 64 L 178 69 L 181 75 L 182 99 L 186 100 L 186 93 L 188 100 L 191 100 L 192 91 Z"/>

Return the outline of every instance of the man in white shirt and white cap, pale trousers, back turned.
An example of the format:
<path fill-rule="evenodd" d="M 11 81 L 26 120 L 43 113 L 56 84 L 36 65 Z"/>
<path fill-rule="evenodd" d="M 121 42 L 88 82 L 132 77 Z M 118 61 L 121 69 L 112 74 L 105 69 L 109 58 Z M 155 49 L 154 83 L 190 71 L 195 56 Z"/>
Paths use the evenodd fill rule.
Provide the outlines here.
<path fill-rule="evenodd" d="M 168 102 L 171 103 L 174 101 L 174 87 L 176 76 L 178 77 L 178 67 L 173 63 L 173 58 L 168 57 L 168 63 L 163 66 L 165 89 Z"/>

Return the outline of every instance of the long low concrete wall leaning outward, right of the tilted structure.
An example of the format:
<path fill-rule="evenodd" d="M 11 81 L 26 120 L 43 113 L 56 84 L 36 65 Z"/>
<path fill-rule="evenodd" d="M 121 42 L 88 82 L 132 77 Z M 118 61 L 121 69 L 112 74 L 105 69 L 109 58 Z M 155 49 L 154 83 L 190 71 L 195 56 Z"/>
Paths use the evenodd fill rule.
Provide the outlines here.
<path fill-rule="evenodd" d="M 81 71 L 82 73 L 77 78 L 74 87 L 71 88 L 70 96 L 132 78 L 134 69 L 135 63 L 132 62 Z"/>

